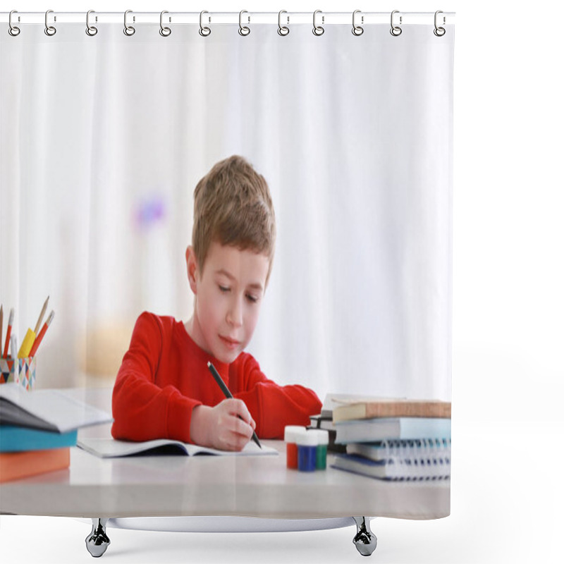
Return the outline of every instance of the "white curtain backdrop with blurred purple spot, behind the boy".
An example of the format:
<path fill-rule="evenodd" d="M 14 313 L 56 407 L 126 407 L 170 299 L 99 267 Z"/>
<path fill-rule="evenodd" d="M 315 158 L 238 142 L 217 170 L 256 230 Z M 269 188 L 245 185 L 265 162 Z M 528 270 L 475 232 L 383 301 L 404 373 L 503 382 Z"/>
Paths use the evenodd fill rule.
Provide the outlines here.
<path fill-rule="evenodd" d="M 111 385 L 140 312 L 190 317 L 192 192 L 241 154 L 278 228 L 265 374 L 450 400 L 453 27 L 197 29 L 1 34 L 0 298 L 21 342 L 50 296 L 37 385 Z"/>

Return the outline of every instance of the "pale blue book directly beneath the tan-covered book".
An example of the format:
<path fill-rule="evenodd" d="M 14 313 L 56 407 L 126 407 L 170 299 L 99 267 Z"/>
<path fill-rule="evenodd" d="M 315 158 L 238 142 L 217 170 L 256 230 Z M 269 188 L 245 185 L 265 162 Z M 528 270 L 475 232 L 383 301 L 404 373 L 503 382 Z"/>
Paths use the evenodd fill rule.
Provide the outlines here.
<path fill-rule="evenodd" d="M 377 417 L 336 422 L 336 443 L 368 443 L 386 439 L 450 439 L 444 417 Z"/>

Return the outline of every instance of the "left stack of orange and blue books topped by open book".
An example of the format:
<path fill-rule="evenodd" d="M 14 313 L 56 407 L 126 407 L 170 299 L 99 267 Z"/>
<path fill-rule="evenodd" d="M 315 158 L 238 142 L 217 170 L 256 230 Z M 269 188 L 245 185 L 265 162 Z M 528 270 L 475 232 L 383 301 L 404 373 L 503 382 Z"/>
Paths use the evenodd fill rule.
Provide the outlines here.
<path fill-rule="evenodd" d="M 111 420 L 61 390 L 1 384 L 0 482 L 67 468 L 78 429 Z"/>

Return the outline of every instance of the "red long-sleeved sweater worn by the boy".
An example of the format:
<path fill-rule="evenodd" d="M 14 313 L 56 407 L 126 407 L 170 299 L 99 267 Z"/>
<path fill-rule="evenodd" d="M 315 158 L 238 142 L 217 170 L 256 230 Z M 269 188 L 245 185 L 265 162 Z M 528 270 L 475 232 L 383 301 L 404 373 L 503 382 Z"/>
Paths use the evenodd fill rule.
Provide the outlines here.
<path fill-rule="evenodd" d="M 114 439 L 190 441 L 192 410 L 225 399 L 207 367 L 210 361 L 234 398 L 247 405 L 262 439 L 283 439 L 285 425 L 307 425 L 321 402 L 303 386 L 278 386 L 258 362 L 241 353 L 231 364 L 202 350 L 173 317 L 142 313 L 116 377 Z"/>

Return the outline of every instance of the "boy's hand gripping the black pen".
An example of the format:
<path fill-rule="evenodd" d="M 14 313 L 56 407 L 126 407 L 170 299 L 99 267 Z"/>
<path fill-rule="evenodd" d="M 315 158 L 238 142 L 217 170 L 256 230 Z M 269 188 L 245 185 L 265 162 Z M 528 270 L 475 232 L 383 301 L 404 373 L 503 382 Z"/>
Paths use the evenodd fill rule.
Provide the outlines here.
<path fill-rule="evenodd" d="M 256 427 L 245 402 L 230 398 L 215 407 L 195 407 L 192 410 L 190 438 L 199 445 L 219 450 L 242 450 Z"/>

